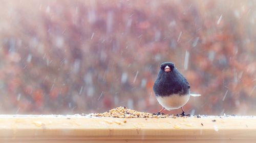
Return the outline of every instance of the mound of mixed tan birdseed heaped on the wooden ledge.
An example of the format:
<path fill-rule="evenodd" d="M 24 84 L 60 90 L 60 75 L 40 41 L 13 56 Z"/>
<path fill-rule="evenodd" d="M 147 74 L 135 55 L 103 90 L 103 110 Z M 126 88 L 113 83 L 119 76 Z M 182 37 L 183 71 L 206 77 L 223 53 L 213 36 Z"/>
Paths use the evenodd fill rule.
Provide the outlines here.
<path fill-rule="evenodd" d="M 109 110 L 108 112 L 91 113 L 89 115 L 97 116 L 97 117 L 120 117 L 120 118 L 136 118 L 136 117 L 141 117 L 141 118 L 172 117 L 172 118 L 176 118 L 177 116 L 181 116 L 181 115 L 153 114 L 153 113 L 139 112 L 136 110 L 128 109 L 126 107 L 117 107 L 117 108 Z"/>

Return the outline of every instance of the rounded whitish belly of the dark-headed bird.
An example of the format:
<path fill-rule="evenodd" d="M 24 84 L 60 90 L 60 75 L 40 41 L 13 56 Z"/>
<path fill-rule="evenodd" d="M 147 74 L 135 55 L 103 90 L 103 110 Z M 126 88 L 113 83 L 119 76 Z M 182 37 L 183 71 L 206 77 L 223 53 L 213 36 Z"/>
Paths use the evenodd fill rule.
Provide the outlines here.
<path fill-rule="evenodd" d="M 157 96 L 157 101 L 161 104 L 166 110 L 178 109 L 185 105 L 189 100 L 190 95 L 186 94 L 185 96 L 180 96 L 179 94 L 174 94 L 173 96 L 160 97 Z"/>

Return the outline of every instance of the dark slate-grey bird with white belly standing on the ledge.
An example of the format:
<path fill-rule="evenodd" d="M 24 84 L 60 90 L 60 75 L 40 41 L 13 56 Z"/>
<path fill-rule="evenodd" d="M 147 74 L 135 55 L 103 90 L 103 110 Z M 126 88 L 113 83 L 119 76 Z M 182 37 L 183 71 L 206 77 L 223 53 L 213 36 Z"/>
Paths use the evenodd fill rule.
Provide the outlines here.
<path fill-rule="evenodd" d="M 199 97 L 201 94 L 190 92 L 190 86 L 186 78 L 178 71 L 173 62 L 164 62 L 153 86 L 155 96 L 163 110 L 173 110 L 181 108 L 181 115 L 186 115 L 184 106 L 190 96 Z"/>

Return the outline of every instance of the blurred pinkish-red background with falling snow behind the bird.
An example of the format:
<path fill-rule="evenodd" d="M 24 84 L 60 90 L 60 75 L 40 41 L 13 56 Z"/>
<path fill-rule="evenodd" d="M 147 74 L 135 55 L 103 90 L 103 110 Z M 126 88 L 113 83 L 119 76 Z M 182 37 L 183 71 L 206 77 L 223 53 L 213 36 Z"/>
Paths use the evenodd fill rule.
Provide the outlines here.
<path fill-rule="evenodd" d="M 190 114 L 256 115 L 255 1 L 1 1 L 0 113 L 155 113 L 162 62 Z M 165 113 L 179 114 L 180 109 Z"/>

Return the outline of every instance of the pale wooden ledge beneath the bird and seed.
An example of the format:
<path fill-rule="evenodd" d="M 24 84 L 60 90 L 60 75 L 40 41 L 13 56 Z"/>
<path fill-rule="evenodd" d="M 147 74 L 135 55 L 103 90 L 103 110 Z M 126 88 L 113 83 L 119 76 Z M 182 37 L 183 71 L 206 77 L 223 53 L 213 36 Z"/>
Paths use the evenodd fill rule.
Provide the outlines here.
<path fill-rule="evenodd" d="M 0 115 L 0 142 L 256 142 L 256 118 Z"/>

